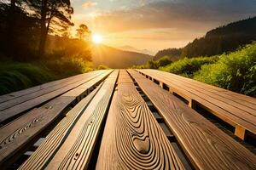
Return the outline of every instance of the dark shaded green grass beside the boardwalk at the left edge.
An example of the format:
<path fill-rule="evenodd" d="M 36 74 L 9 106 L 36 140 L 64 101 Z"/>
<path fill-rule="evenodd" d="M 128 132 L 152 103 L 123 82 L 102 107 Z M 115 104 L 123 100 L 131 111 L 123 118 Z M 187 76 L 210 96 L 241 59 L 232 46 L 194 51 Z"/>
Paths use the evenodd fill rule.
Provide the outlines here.
<path fill-rule="evenodd" d="M 25 63 L 0 63 L 0 94 L 49 82 L 55 76 L 42 66 Z"/>

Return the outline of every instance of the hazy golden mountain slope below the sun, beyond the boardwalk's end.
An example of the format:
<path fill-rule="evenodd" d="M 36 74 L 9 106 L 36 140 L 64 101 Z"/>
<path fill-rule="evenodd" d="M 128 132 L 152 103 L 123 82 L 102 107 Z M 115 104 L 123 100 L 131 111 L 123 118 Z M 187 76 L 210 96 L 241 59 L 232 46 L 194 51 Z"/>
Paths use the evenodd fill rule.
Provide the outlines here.
<path fill-rule="evenodd" d="M 123 51 L 106 45 L 92 47 L 92 61 L 95 67 L 107 65 L 110 68 L 128 68 L 132 65 L 143 65 L 153 56 L 136 52 Z"/>

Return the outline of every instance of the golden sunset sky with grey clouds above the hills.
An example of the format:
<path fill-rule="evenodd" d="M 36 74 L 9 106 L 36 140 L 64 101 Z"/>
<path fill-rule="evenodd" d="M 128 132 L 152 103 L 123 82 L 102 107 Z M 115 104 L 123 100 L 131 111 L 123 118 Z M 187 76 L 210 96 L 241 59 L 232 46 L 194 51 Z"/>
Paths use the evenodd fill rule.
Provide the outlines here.
<path fill-rule="evenodd" d="M 256 0 L 71 0 L 79 24 L 103 43 L 157 52 L 180 48 L 207 31 L 256 15 Z"/>

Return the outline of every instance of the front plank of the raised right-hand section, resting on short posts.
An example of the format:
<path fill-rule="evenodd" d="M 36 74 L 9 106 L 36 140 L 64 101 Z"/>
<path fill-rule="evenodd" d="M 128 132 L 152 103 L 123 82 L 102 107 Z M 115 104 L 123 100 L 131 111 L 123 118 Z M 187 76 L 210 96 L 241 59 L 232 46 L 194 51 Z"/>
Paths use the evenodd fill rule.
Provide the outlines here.
<path fill-rule="evenodd" d="M 150 70 L 151 71 L 151 70 Z M 143 71 L 147 74 L 147 71 Z M 152 71 L 151 71 L 152 72 Z M 155 72 L 155 71 L 153 71 Z M 149 73 L 148 73 L 149 74 Z M 167 73 L 168 74 L 168 73 Z M 170 78 L 160 76 L 160 74 L 151 74 L 150 76 L 156 78 L 159 81 L 166 83 L 172 91 L 177 94 L 182 94 L 188 96 L 190 99 L 194 99 L 197 103 L 200 103 L 207 111 L 212 112 L 215 116 L 223 119 L 225 122 L 230 123 L 230 125 L 236 127 L 237 125 L 243 127 L 250 131 L 251 133 L 256 133 L 256 118 L 255 111 L 245 112 L 236 108 L 234 105 L 226 104 L 223 101 L 212 98 L 210 94 L 199 93 L 191 87 L 186 88 L 185 83 L 180 83 L 173 81 Z M 160 77 L 163 79 L 161 80 Z M 218 92 L 221 93 L 221 92 Z M 213 95 L 213 94 L 212 94 Z M 244 137 L 243 137 L 244 138 Z"/>

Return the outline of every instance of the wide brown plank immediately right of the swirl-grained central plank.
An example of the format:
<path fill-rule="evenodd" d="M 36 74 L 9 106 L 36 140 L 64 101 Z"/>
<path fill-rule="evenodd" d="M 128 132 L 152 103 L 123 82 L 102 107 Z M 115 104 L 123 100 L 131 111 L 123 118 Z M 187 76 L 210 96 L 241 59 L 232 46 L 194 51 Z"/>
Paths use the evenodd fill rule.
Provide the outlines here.
<path fill-rule="evenodd" d="M 129 71 L 199 169 L 255 169 L 256 156 L 175 96 Z"/>

